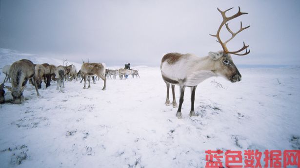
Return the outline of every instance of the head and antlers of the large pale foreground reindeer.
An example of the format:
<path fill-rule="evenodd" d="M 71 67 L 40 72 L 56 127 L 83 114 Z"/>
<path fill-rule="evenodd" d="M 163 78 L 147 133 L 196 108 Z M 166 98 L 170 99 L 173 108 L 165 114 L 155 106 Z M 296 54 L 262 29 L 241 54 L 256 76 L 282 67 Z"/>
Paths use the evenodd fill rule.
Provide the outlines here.
<path fill-rule="evenodd" d="M 233 55 L 238 55 L 238 56 L 245 56 L 247 54 L 250 53 L 250 50 L 248 51 L 248 47 L 249 45 L 245 45 L 245 42 L 243 42 L 243 47 L 240 49 L 240 50 L 237 50 L 237 51 L 228 51 L 227 49 L 227 46 L 226 44 L 231 40 L 233 39 L 238 33 L 240 33 L 241 31 L 249 28 L 250 26 L 247 26 L 247 27 L 242 27 L 242 23 L 240 22 L 240 30 L 237 31 L 236 33 L 232 32 L 230 30 L 230 28 L 228 27 L 228 23 L 226 23 L 227 21 L 231 20 L 231 19 L 235 19 L 241 15 L 244 15 L 244 14 L 248 14 L 248 13 L 243 13 L 243 12 L 240 12 L 240 7 L 239 7 L 239 11 L 238 13 L 236 13 L 235 15 L 231 16 L 231 17 L 226 17 L 225 13 L 229 10 L 231 10 L 232 8 L 230 9 L 227 9 L 225 11 L 221 11 L 219 8 L 218 8 L 218 11 L 221 13 L 222 15 L 222 18 L 223 18 L 223 21 L 222 23 L 220 24 L 220 27 L 217 31 L 217 34 L 216 35 L 211 35 L 213 37 L 217 37 L 217 42 L 219 42 L 223 48 L 223 51 L 219 51 L 219 52 L 209 52 L 209 56 L 214 60 L 216 61 L 215 63 L 215 72 L 216 74 L 218 75 L 221 75 L 221 76 L 224 76 L 225 78 L 227 78 L 228 80 L 230 80 L 231 82 L 238 82 L 241 80 L 241 75 L 240 75 L 240 72 L 238 70 L 238 68 L 235 66 L 235 64 L 233 63 L 233 60 L 230 56 L 230 54 L 233 54 Z M 228 32 L 231 34 L 231 37 L 226 40 L 225 42 L 222 42 L 221 39 L 220 39 L 220 30 L 223 26 L 226 26 L 226 29 L 228 30 Z M 245 50 L 246 49 L 246 52 L 243 53 L 243 54 L 239 54 L 241 51 Z"/>

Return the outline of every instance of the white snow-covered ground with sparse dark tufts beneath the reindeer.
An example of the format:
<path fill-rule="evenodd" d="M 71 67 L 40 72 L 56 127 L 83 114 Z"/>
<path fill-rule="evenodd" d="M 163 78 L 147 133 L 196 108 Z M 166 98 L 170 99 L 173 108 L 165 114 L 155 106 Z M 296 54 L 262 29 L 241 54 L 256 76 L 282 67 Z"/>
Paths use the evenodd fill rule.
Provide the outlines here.
<path fill-rule="evenodd" d="M 62 64 L 1 49 L 0 67 L 21 58 Z M 21 105 L 0 105 L 0 167 L 202 168 L 208 149 L 300 149 L 300 67 L 240 68 L 238 83 L 209 78 L 196 90 L 198 117 L 188 116 L 186 89 L 182 119 L 164 105 L 160 68 L 136 69 L 140 78 L 107 80 L 106 91 L 102 80 L 85 90 L 66 82 L 64 93 L 53 82 L 37 97 L 28 84 Z"/>

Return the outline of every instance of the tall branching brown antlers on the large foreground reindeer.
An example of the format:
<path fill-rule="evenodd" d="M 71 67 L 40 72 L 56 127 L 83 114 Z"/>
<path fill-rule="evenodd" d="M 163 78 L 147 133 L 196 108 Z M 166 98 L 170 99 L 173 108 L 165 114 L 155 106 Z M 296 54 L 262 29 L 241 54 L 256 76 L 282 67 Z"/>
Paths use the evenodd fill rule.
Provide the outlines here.
<path fill-rule="evenodd" d="M 225 11 L 221 11 L 219 8 L 217 8 L 217 9 L 218 9 L 218 11 L 221 13 L 222 18 L 223 18 L 223 21 L 222 21 L 221 24 L 220 24 L 220 27 L 219 27 L 219 29 L 218 29 L 218 31 L 217 31 L 217 34 L 216 34 L 216 35 L 211 35 L 211 34 L 209 34 L 209 35 L 210 35 L 210 36 L 213 36 L 213 37 L 217 37 L 217 39 L 218 39 L 217 42 L 219 42 L 219 43 L 221 44 L 221 46 L 222 46 L 222 48 L 223 48 L 225 54 L 226 54 L 226 53 L 227 53 L 227 54 L 234 54 L 234 55 L 238 55 L 238 56 L 244 56 L 244 55 L 249 54 L 249 53 L 250 53 L 250 50 L 248 51 L 248 49 L 247 49 L 247 48 L 249 47 L 249 45 L 245 45 L 245 42 L 243 42 L 243 47 L 242 47 L 240 50 L 238 50 L 238 51 L 232 51 L 232 52 L 231 52 L 231 51 L 228 51 L 227 46 L 226 46 L 227 42 L 229 42 L 229 41 L 230 41 L 232 38 L 234 38 L 237 34 L 239 34 L 241 31 L 243 31 L 243 30 L 245 30 L 245 29 L 247 29 L 247 28 L 250 27 L 250 25 L 247 26 L 247 27 L 242 27 L 242 23 L 240 22 L 240 30 L 237 31 L 236 33 L 233 33 L 233 32 L 229 29 L 228 23 L 226 23 L 226 22 L 229 21 L 229 20 L 231 20 L 231 19 L 238 18 L 238 17 L 241 16 L 241 15 L 248 14 L 248 13 L 240 12 L 240 6 L 239 6 L 239 12 L 238 12 L 238 13 L 234 14 L 234 15 L 231 16 L 231 17 L 226 17 L 226 12 L 229 11 L 229 10 L 231 10 L 232 8 L 229 8 L 229 9 L 227 9 L 227 10 L 225 10 Z M 225 24 L 226 29 L 228 30 L 228 32 L 231 34 L 231 37 L 230 37 L 228 40 L 226 40 L 225 42 L 222 42 L 221 39 L 220 39 L 220 30 L 221 30 L 221 28 L 224 26 L 224 24 Z M 245 53 L 239 54 L 239 52 L 241 52 L 241 51 L 243 51 L 243 50 L 245 50 L 245 49 L 246 49 L 246 52 L 245 52 Z"/>

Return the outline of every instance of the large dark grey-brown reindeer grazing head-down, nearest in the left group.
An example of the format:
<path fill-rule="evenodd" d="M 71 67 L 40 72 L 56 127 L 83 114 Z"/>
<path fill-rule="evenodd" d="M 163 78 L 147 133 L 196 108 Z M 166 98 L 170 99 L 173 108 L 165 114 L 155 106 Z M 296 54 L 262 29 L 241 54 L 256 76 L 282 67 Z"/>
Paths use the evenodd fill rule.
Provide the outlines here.
<path fill-rule="evenodd" d="M 28 59 L 21 59 L 14 62 L 9 70 L 11 77 L 12 87 L 6 86 L 11 91 L 14 103 L 20 104 L 23 99 L 23 91 L 25 89 L 28 79 L 33 78 L 35 75 L 34 64 Z M 40 96 L 36 82 L 34 81 L 37 96 Z"/>

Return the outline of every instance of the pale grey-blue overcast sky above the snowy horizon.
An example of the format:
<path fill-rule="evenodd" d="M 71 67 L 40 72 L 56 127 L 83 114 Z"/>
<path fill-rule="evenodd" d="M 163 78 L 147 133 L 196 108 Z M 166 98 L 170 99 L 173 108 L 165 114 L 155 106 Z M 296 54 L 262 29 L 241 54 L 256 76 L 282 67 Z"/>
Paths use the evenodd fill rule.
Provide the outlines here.
<path fill-rule="evenodd" d="M 217 10 L 249 13 L 229 21 L 227 44 L 250 45 L 236 64 L 300 64 L 300 0 L 0 0 L 0 47 L 24 53 L 107 65 L 159 66 L 170 52 L 207 56 L 219 51 Z M 230 34 L 222 31 L 222 39 Z M 223 40 L 224 41 L 224 40 Z"/>

